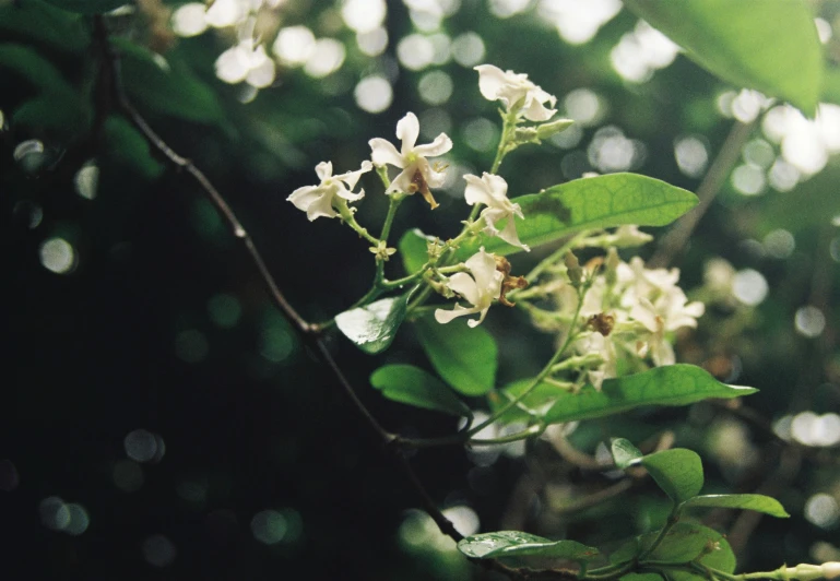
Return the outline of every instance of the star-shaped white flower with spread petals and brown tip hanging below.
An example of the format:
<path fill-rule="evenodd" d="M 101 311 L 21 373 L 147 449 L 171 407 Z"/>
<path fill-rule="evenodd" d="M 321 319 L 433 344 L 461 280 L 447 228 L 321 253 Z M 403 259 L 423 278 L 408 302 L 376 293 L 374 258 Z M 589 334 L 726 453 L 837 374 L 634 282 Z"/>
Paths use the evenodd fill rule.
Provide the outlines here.
<path fill-rule="evenodd" d="M 431 143 L 415 146 L 417 135 L 419 135 L 419 121 L 413 112 L 407 112 L 397 123 L 397 137 L 402 140 L 400 151 L 398 152 L 392 143 L 375 138 L 368 142 L 372 152 L 371 158 L 377 167 L 389 164 L 402 169 L 386 193 L 419 191 L 431 208 L 436 208 L 438 204 L 431 198 L 429 188 L 442 186 L 445 176 L 442 171 L 433 169 L 426 157 L 445 154 L 452 149 L 452 140 L 446 133 L 440 133 Z"/>

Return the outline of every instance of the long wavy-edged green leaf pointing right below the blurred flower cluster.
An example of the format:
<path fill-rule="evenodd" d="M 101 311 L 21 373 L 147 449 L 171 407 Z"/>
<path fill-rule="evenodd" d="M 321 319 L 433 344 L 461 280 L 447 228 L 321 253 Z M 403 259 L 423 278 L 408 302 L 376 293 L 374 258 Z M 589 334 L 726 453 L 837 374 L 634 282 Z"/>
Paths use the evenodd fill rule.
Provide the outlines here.
<path fill-rule="evenodd" d="M 588 386 L 579 393 L 558 394 L 544 419 L 551 424 L 590 419 L 641 405 L 687 405 L 710 398 L 740 398 L 756 391 L 754 388 L 721 383 L 694 365 L 669 365 L 604 380 L 601 391 Z"/>

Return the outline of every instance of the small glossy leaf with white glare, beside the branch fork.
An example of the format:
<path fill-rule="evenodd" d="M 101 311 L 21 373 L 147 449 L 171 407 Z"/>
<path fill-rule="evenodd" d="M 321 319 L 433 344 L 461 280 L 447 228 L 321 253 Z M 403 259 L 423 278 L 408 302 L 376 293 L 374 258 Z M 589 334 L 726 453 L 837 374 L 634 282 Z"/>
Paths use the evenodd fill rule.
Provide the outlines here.
<path fill-rule="evenodd" d="M 393 343 L 397 330 L 405 319 L 409 306 L 406 293 L 394 298 L 383 298 L 335 316 L 335 325 L 358 348 L 370 355 L 381 353 Z"/>

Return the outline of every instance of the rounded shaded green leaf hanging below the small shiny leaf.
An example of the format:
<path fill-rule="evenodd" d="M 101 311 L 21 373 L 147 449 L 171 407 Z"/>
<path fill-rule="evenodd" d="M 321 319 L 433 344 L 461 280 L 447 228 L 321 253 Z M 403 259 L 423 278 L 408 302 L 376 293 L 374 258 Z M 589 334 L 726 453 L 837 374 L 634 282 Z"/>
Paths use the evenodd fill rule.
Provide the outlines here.
<path fill-rule="evenodd" d="M 456 391 L 484 395 L 493 389 L 498 347 L 487 331 L 470 329 L 462 321 L 440 324 L 429 318 L 418 320 L 415 329 L 431 366 Z"/>

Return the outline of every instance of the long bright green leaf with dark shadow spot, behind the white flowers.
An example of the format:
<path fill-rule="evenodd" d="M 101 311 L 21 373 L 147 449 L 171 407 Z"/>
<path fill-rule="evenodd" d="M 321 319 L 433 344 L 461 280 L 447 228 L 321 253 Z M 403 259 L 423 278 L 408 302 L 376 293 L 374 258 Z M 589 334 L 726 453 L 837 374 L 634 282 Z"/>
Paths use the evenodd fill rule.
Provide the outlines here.
<path fill-rule="evenodd" d="M 688 190 L 638 174 L 576 179 L 511 201 L 525 216 L 517 218 L 519 238 L 532 248 L 589 228 L 664 226 L 697 205 L 697 197 Z M 497 225 L 504 226 L 505 221 Z M 497 254 L 522 250 L 482 234 L 462 245 L 458 257 L 468 258 L 481 246 Z"/>

